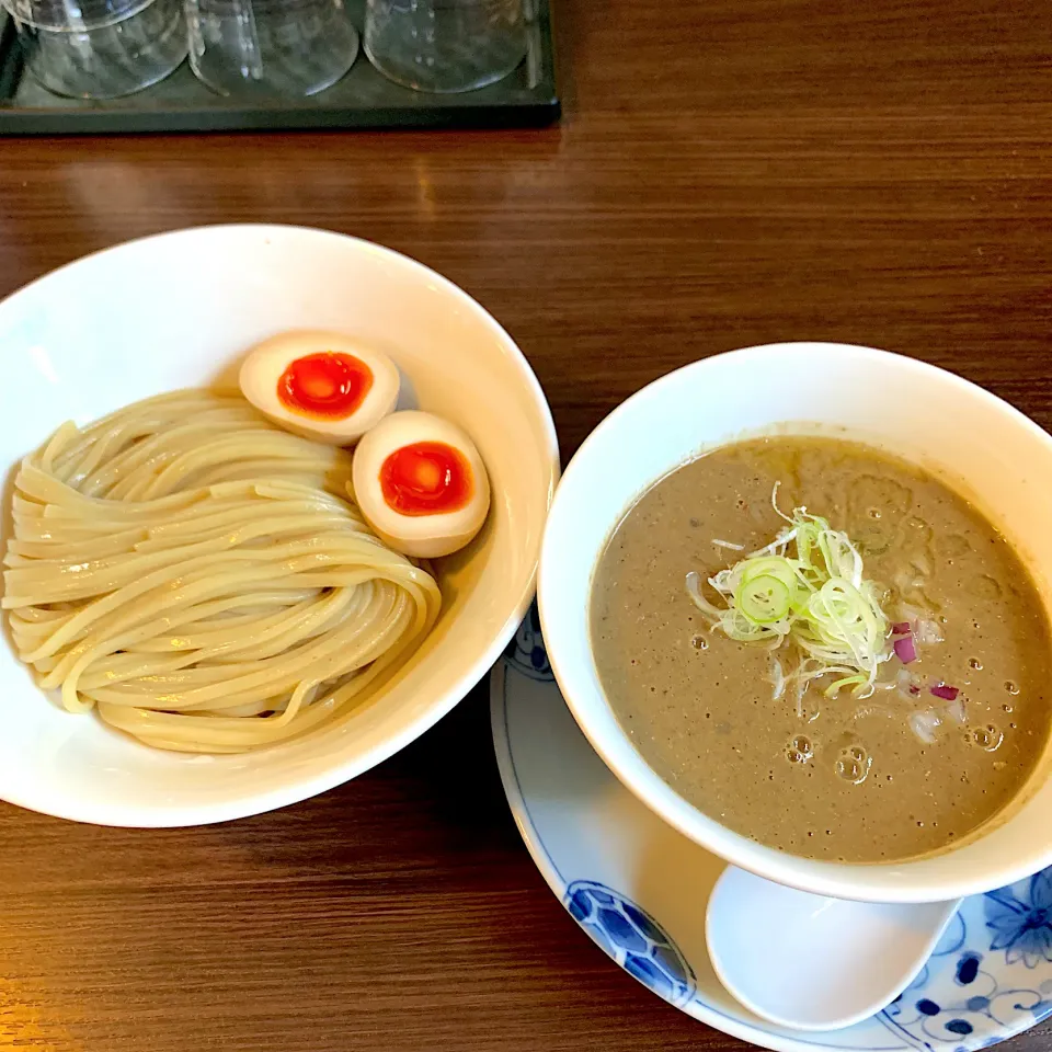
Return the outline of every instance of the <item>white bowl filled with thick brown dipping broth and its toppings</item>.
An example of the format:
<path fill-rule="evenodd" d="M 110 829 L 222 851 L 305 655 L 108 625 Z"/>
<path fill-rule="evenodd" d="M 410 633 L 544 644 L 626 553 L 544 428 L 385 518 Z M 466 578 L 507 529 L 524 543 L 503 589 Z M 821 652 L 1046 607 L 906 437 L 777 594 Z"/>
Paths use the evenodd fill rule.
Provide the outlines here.
<path fill-rule="evenodd" d="M 942 369 L 688 365 L 568 467 L 538 593 L 574 717 L 662 819 L 816 894 L 1052 862 L 1052 438 Z"/>

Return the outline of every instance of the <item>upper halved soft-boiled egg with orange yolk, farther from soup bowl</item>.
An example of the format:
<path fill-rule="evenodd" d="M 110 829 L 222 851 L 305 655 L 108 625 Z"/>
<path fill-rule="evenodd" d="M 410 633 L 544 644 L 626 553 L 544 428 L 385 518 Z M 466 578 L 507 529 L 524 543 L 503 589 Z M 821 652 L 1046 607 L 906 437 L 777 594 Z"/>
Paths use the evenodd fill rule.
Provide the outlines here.
<path fill-rule="evenodd" d="M 282 427 L 345 446 L 398 401 L 395 363 L 339 332 L 285 332 L 254 346 L 241 365 L 241 393 Z"/>

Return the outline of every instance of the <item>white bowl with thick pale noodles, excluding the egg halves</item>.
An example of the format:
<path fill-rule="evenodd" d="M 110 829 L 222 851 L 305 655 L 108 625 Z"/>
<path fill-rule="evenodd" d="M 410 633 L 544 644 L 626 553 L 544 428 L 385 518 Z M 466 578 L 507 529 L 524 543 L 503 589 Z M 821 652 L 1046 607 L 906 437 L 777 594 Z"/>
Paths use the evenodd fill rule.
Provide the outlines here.
<path fill-rule="evenodd" d="M 393 550 L 351 451 L 240 397 L 245 352 L 295 330 L 389 355 L 399 409 L 470 435 L 492 498 L 467 547 Z M 15 293 L 0 347 L 0 798 L 126 826 L 306 799 L 427 730 L 521 621 L 551 415 L 511 338 L 426 267 L 321 230 L 178 231 Z"/>

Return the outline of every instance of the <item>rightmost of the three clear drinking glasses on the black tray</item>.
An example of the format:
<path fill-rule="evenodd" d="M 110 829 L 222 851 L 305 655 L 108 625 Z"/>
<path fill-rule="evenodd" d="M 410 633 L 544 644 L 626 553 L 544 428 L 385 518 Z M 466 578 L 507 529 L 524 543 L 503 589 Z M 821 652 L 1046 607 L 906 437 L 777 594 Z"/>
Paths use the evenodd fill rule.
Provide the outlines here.
<path fill-rule="evenodd" d="M 367 0 L 365 54 L 418 91 L 471 91 L 526 54 L 523 0 Z"/>

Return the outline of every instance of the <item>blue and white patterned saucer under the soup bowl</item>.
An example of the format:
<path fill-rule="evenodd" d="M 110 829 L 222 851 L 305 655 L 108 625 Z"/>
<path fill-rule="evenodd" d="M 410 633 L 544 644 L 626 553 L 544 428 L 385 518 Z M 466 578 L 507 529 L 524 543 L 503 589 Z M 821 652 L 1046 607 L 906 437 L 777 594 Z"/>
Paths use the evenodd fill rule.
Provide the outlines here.
<path fill-rule="evenodd" d="M 592 751 L 552 678 L 536 610 L 493 670 L 491 700 L 504 790 L 551 890 L 621 968 L 696 1019 L 778 1052 L 971 1052 L 1052 1014 L 1049 869 L 968 899 L 910 988 L 865 1022 L 800 1034 L 756 1018 L 706 951 L 705 906 L 723 862 Z"/>

